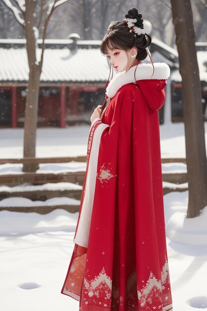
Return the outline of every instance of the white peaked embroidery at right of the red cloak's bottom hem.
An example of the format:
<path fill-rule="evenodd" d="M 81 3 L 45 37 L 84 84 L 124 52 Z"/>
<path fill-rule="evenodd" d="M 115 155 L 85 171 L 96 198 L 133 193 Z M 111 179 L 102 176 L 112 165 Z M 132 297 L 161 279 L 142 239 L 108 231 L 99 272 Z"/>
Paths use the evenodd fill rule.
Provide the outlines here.
<path fill-rule="evenodd" d="M 169 269 L 168 262 L 165 261 L 164 266 L 161 271 L 161 280 L 157 280 L 152 272 L 150 272 L 148 281 L 146 282 L 145 287 L 140 291 L 138 290 L 138 300 L 140 301 L 141 307 L 145 304 L 151 305 L 151 310 L 162 310 L 167 311 L 172 307 L 171 296 L 168 297 L 167 294 L 163 295 L 162 290 L 167 287 L 167 290 L 170 289 L 170 278 L 169 278 Z M 163 301 L 164 300 L 164 301 Z M 158 304 L 158 307 L 153 307 L 152 303 Z M 164 307 L 165 306 L 165 307 Z"/>

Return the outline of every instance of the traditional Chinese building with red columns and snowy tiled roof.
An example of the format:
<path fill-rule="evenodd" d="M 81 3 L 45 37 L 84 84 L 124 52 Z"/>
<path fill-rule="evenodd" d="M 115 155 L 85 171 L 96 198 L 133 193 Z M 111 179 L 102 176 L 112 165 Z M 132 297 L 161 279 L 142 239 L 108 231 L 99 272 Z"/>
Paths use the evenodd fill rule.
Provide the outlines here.
<path fill-rule="evenodd" d="M 94 108 L 104 100 L 109 63 L 100 53 L 100 40 L 46 40 L 40 77 L 38 126 L 60 126 L 90 122 Z M 0 126 L 20 127 L 24 123 L 28 62 L 25 39 L 0 39 Z M 38 41 L 39 53 L 41 40 Z M 166 62 L 171 73 L 178 68 L 177 52 L 152 38 L 153 62 Z M 170 110 L 170 80 L 166 102 L 159 111 Z M 102 91 L 103 90 L 103 91 Z M 101 92 L 102 91 L 102 92 Z M 169 115 L 168 113 L 168 115 Z"/>

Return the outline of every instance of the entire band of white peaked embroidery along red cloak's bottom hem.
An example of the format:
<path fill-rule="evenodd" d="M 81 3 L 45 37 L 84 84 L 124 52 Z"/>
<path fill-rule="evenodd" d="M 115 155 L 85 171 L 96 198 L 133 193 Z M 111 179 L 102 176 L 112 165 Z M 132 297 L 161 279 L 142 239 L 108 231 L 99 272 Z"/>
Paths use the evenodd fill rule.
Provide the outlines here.
<path fill-rule="evenodd" d="M 173 311 L 171 296 L 168 298 L 163 296 L 162 290 L 167 288 L 166 293 L 170 290 L 170 280 L 168 271 L 168 262 L 166 260 L 162 271 L 161 280 L 157 280 L 151 272 L 146 282 L 146 286 L 138 291 L 137 287 L 137 272 L 133 270 L 127 281 L 127 311 L 138 311 L 138 301 L 140 306 L 146 305 L 149 311 Z M 86 296 L 83 298 L 83 310 L 90 310 L 93 306 L 97 310 L 102 310 L 101 307 L 112 308 L 110 310 L 117 310 L 117 307 L 123 304 L 123 297 L 120 296 L 119 288 L 112 288 L 112 280 L 107 276 L 105 269 L 101 270 L 98 276 L 92 280 L 83 280 L 83 291 Z M 113 300 L 111 300 L 113 298 Z M 112 305 L 111 305 L 112 303 Z M 87 309 L 87 306 L 88 308 Z M 156 305 L 156 306 L 155 306 Z M 95 307 L 96 306 L 96 307 Z M 95 309 L 94 309 L 95 310 Z"/>

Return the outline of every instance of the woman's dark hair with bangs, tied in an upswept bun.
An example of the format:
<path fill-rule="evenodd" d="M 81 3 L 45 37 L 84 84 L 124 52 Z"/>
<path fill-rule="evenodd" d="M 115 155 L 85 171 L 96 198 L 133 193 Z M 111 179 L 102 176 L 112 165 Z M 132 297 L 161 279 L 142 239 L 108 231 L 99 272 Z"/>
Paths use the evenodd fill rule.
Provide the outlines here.
<path fill-rule="evenodd" d="M 136 7 L 129 9 L 128 14 L 125 15 L 126 18 L 136 18 L 137 22 L 135 26 L 143 29 L 143 19 L 142 15 L 139 14 Z M 127 23 L 122 20 L 114 23 L 108 28 L 107 34 L 104 36 L 100 50 L 101 53 L 105 56 L 108 52 L 108 49 L 120 49 L 130 51 L 134 46 L 137 47 L 138 53 L 136 59 L 142 61 L 147 57 L 146 48 L 151 43 L 151 37 L 148 34 L 136 34 L 130 32 L 130 28 Z"/>

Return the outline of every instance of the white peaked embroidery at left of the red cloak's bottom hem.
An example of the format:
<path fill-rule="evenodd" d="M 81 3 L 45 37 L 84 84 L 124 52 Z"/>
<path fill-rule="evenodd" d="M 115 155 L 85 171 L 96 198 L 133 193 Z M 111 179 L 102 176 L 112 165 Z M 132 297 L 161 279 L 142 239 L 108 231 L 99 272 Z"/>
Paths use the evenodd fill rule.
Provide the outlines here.
<path fill-rule="evenodd" d="M 103 267 L 102 271 L 98 276 L 91 281 L 88 281 L 86 278 L 83 280 L 83 290 L 85 294 L 88 294 L 89 300 L 94 303 L 98 303 L 103 307 L 108 307 L 111 304 L 111 291 L 112 291 L 112 280 L 109 276 L 106 275 L 105 269 Z M 105 303 L 101 303 L 100 300 L 96 300 L 96 298 L 104 298 Z M 107 304 L 108 301 L 108 304 Z"/>

